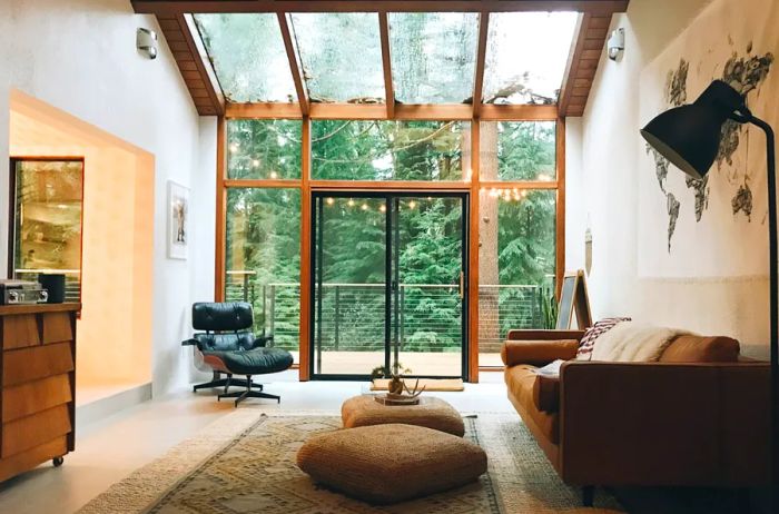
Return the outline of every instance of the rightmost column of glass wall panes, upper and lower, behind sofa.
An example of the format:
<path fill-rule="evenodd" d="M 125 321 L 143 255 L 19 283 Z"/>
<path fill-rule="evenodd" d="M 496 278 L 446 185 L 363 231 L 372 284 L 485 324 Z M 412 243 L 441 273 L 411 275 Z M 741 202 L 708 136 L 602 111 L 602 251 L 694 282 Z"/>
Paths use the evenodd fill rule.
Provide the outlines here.
<path fill-rule="evenodd" d="M 556 177 L 554 121 L 481 123 L 479 344 L 482 366 L 502 366 L 513 328 L 554 323 L 556 189 L 524 181 Z"/>

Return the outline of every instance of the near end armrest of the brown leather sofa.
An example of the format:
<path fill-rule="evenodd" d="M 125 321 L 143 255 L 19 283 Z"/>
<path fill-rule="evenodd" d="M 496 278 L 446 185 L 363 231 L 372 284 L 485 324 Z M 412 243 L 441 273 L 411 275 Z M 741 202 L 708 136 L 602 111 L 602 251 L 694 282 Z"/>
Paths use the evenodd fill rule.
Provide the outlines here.
<path fill-rule="evenodd" d="M 569 484 L 758 485 L 769 478 L 766 363 L 564 363 Z"/>

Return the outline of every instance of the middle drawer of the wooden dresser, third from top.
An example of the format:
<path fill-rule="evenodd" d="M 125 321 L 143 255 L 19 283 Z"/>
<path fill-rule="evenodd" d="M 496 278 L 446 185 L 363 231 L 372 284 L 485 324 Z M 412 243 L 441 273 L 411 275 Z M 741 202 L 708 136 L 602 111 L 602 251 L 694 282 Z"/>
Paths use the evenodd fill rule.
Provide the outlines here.
<path fill-rule="evenodd" d="M 2 423 L 12 422 L 72 399 L 70 375 L 56 375 L 26 382 L 2 391 Z"/>

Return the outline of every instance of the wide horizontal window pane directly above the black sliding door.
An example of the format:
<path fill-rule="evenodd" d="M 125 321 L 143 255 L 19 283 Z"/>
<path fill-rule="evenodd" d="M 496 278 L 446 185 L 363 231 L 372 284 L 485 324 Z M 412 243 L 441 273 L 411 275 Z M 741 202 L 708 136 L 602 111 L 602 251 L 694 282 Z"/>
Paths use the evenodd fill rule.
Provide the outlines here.
<path fill-rule="evenodd" d="M 315 120 L 312 178 L 462 180 L 458 121 Z"/>

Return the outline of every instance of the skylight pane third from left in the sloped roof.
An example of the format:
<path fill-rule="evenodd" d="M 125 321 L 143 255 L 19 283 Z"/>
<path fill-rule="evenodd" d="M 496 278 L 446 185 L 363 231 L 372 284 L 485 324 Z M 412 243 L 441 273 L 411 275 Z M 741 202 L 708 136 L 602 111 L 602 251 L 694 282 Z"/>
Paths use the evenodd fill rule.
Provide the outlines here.
<path fill-rule="evenodd" d="M 479 14 L 391 12 L 395 98 L 403 103 L 461 103 L 473 96 Z"/>

